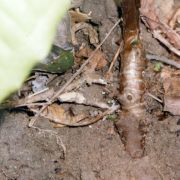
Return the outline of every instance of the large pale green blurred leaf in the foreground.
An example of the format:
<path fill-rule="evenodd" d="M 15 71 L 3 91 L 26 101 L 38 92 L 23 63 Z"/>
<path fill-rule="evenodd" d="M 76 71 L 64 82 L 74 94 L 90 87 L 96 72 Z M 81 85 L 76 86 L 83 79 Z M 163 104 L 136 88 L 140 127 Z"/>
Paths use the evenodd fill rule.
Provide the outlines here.
<path fill-rule="evenodd" d="M 70 0 L 0 0 L 0 102 L 50 50 Z"/>

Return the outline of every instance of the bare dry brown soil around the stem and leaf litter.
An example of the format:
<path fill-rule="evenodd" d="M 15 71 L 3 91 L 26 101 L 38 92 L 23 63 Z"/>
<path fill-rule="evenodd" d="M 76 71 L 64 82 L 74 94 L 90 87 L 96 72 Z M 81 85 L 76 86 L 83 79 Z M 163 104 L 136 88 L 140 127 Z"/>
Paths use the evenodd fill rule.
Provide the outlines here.
<path fill-rule="evenodd" d="M 112 27 L 117 12 L 111 0 L 77 1 L 85 13 L 101 22 L 102 40 Z M 78 6 L 79 6 L 78 5 Z M 165 50 L 142 25 L 146 49 L 160 54 Z M 111 59 L 113 39 L 108 39 L 103 51 Z M 157 73 L 146 70 L 149 91 L 157 85 Z M 101 94 L 100 87 L 90 92 Z M 154 91 L 153 91 L 154 92 Z M 99 93 L 99 94 L 98 94 Z M 163 118 L 162 106 L 146 97 L 147 111 L 151 114 L 146 134 L 145 156 L 132 159 L 124 150 L 114 122 L 101 120 L 91 126 L 53 129 L 51 123 L 38 119 L 37 128 L 28 128 L 30 117 L 24 112 L 0 112 L 0 180 L 179 180 L 180 141 L 174 126 L 180 117 L 169 114 Z M 160 117 L 159 115 L 159 117 Z"/>

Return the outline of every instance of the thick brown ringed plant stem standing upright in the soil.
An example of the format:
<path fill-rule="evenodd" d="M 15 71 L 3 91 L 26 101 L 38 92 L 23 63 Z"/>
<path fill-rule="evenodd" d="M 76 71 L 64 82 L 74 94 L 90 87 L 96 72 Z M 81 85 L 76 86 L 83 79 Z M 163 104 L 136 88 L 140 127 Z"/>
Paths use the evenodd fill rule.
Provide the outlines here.
<path fill-rule="evenodd" d="M 142 44 L 139 38 L 139 0 L 123 0 L 124 51 L 121 58 L 120 103 L 123 113 L 116 127 L 123 131 L 125 147 L 134 158 L 143 155 L 139 122 L 144 118 L 145 68 Z"/>

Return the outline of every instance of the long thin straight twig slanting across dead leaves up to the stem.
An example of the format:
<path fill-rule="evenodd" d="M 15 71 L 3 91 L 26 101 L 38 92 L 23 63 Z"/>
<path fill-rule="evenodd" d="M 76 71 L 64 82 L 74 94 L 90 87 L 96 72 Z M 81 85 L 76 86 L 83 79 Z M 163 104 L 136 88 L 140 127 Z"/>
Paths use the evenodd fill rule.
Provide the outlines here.
<path fill-rule="evenodd" d="M 106 41 L 106 39 L 109 37 L 109 35 L 112 33 L 112 31 L 114 30 L 114 28 L 122 21 L 122 19 L 119 19 L 114 26 L 110 29 L 110 31 L 108 32 L 108 34 L 106 35 L 106 37 L 103 39 L 103 41 L 97 46 L 97 48 L 95 49 L 95 51 L 92 52 L 92 54 L 90 55 L 90 57 L 84 62 L 84 64 L 82 64 L 82 66 L 77 70 L 77 72 L 69 79 L 69 81 L 66 82 L 66 84 L 59 89 L 55 95 L 47 102 L 47 104 L 45 104 L 40 110 L 39 112 L 35 115 L 34 118 L 31 119 L 30 123 L 29 123 L 29 127 L 33 126 L 33 124 L 35 123 L 36 119 L 39 117 L 39 115 L 41 114 L 41 112 L 43 112 L 70 84 L 71 82 L 83 71 L 84 67 L 91 61 L 91 59 L 94 57 L 95 53 L 100 49 L 100 47 L 103 45 L 103 43 Z"/>

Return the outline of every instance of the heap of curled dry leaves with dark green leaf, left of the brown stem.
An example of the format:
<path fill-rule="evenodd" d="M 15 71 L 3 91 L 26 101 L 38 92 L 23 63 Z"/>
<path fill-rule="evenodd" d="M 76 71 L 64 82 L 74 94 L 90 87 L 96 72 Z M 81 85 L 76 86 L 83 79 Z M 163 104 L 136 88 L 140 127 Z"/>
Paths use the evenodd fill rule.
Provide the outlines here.
<path fill-rule="evenodd" d="M 99 43 L 97 31 L 93 28 L 91 24 L 85 23 L 91 19 L 90 15 L 81 13 L 79 9 L 70 10 L 69 15 L 71 19 L 72 44 L 77 45 L 77 43 L 75 43 L 74 41 L 76 39 L 76 31 L 82 30 L 83 34 L 89 36 L 90 45 L 97 47 Z M 76 29 L 76 27 L 78 27 L 78 29 Z M 68 114 L 68 112 L 64 111 L 63 103 L 83 104 L 85 106 L 92 106 L 100 108 L 102 110 L 107 110 L 105 111 L 105 113 L 102 112 L 101 114 L 97 115 L 96 118 L 93 117 L 94 119 L 98 120 L 103 116 L 106 116 L 109 113 L 113 113 L 118 110 L 118 104 L 112 104 L 110 106 L 108 103 L 99 101 L 98 99 L 92 100 L 91 98 L 87 98 L 79 91 L 79 89 L 83 86 L 91 86 L 92 84 L 99 84 L 104 86 L 107 84 L 106 79 L 104 79 L 99 73 L 97 73 L 99 70 L 102 70 L 107 65 L 107 57 L 101 50 L 96 50 L 96 52 L 94 52 L 93 48 L 90 48 L 88 46 L 89 44 L 82 44 L 80 49 L 76 51 L 73 56 L 72 50 L 64 50 L 57 45 L 53 45 L 51 53 L 45 59 L 44 63 L 38 64 L 34 68 L 33 71 L 36 73 L 35 79 L 28 81 L 28 84 L 32 84 L 32 93 L 26 95 L 25 98 L 20 98 L 19 100 L 11 101 L 10 103 L 8 102 L 9 106 L 26 106 L 30 111 L 37 113 L 39 111 L 39 107 L 43 103 L 46 104 L 46 102 L 54 96 L 54 94 L 56 93 L 56 89 L 62 86 L 61 84 L 59 87 L 56 87 L 55 84 L 51 84 L 51 86 L 49 86 L 49 76 L 52 73 L 63 74 L 69 69 L 71 69 L 74 64 L 74 58 L 75 68 L 76 66 L 81 66 L 81 63 L 83 61 L 87 61 L 86 59 L 91 57 L 94 53 L 91 61 L 84 68 L 80 77 L 75 79 L 65 89 L 65 92 L 59 95 L 59 97 L 57 97 L 60 105 L 51 104 L 46 109 L 44 109 L 40 115 L 46 117 L 47 119 L 50 119 L 56 124 L 78 126 L 78 122 L 82 121 L 85 118 L 87 119 L 88 116 L 84 115 L 83 113 L 82 115 L 71 116 L 70 114 Z M 43 74 L 41 74 L 41 72 L 43 72 Z M 94 120 L 91 119 L 92 118 L 90 118 L 89 122 L 86 120 L 87 122 L 85 124 L 80 123 L 79 125 L 81 126 L 91 124 L 91 122 L 94 122 Z"/>

